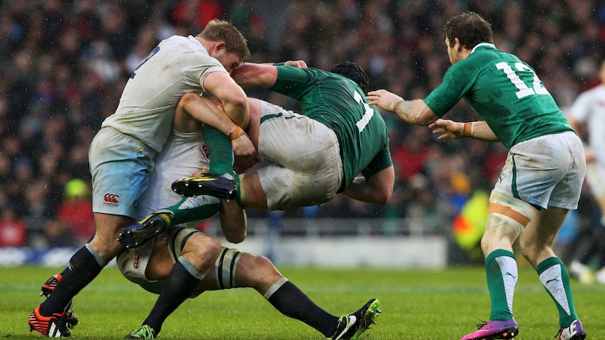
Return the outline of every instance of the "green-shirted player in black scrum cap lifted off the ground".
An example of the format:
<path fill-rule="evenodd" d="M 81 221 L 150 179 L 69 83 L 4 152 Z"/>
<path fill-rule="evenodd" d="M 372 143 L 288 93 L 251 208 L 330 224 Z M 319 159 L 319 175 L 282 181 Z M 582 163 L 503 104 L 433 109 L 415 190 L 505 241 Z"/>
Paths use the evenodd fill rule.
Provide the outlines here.
<path fill-rule="evenodd" d="M 262 102 L 259 132 L 251 140 L 258 142 L 259 155 L 273 163 L 236 177 L 243 208 L 321 205 L 337 193 L 368 203 L 389 200 L 394 169 L 387 128 L 366 102 L 368 77 L 361 67 L 345 62 L 326 72 L 246 63 L 232 78 L 242 88 L 293 97 L 302 110 L 296 114 Z M 214 184 L 206 177 L 189 178 L 175 182 L 173 189 L 184 196 L 217 196 Z"/>

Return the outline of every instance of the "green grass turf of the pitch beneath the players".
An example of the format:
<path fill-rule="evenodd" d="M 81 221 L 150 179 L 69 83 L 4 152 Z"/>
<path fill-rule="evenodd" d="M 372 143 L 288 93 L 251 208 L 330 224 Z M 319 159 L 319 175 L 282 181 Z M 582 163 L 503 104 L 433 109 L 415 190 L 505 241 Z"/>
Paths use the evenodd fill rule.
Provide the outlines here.
<path fill-rule="evenodd" d="M 446 270 L 331 270 L 280 268 L 319 306 L 350 313 L 378 297 L 383 313 L 366 339 L 458 339 L 489 314 L 481 266 Z M 41 283 L 58 268 L 0 268 L 0 339 L 42 339 L 27 316 L 43 301 Z M 605 285 L 572 282 L 588 339 L 605 339 Z M 74 300 L 79 339 L 121 339 L 140 326 L 156 296 L 106 268 Z M 557 311 L 535 272 L 520 268 L 514 299 L 521 339 L 553 339 Z M 314 329 L 275 311 L 250 289 L 206 292 L 171 315 L 159 339 L 323 339 Z"/>

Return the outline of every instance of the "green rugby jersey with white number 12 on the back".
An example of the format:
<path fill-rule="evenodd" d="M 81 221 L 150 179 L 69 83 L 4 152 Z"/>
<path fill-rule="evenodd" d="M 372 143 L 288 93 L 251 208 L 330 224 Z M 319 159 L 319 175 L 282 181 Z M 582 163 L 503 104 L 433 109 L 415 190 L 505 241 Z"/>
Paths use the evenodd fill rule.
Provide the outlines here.
<path fill-rule="evenodd" d="M 535 137 L 573 131 L 536 72 L 493 43 L 479 43 L 453 64 L 425 103 L 441 117 L 462 97 L 508 149 Z"/>

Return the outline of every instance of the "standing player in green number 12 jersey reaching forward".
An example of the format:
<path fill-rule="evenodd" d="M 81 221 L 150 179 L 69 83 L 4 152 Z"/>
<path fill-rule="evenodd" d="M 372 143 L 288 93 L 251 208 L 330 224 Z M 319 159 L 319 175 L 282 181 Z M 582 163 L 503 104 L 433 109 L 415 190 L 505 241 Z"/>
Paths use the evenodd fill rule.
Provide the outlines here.
<path fill-rule="evenodd" d="M 524 257 L 559 311 L 557 339 L 585 339 L 573 305 L 569 273 L 552 244 L 569 209 L 578 207 L 585 175 L 582 142 L 536 72 L 493 44 L 491 25 L 467 12 L 449 18 L 443 39 L 452 66 L 424 100 L 403 100 L 387 90 L 366 97 L 404 121 L 428 125 L 439 140 L 470 137 L 502 142 L 509 153 L 489 198 L 484 252 L 491 315 L 470 339 L 513 339 L 512 314 L 519 238 Z M 464 98 L 484 121 L 441 119 Z"/>

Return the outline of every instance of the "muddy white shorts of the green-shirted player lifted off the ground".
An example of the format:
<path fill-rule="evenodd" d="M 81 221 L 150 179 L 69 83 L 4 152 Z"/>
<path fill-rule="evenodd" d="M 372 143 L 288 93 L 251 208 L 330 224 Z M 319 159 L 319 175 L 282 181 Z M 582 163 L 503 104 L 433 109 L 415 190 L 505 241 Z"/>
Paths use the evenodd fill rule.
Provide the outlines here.
<path fill-rule="evenodd" d="M 258 151 L 271 163 L 258 170 L 270 210 L 321 205 L 343 182 L 333 130 L 313 119 L 262 102 Z"/>

